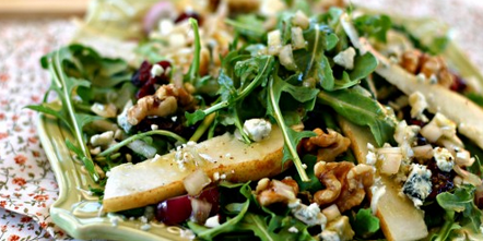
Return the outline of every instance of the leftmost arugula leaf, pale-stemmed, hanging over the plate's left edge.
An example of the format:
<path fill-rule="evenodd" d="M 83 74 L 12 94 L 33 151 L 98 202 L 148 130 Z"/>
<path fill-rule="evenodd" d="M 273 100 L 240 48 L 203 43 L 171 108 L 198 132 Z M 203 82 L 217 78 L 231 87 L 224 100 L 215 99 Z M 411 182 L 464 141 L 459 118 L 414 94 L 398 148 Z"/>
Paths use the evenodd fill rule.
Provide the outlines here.
<path fill-rule="evenodd" d="M 83 128 L 103 118 L 92 116 L 90 111 L 82 112 L 82 108 L 75 107 L 89 106 L 90 101 L 99 99 L 101 97 L 97 95 L 104 94 L 103 89 L 114 88 L 117 91 L 120 83 L 130 84 L 132 71 L 121 59 L 103 58 L 94 49 L 75 44 L 44 56 L 40 63 L 44 69 L 49 70 L 52 83 L 44 97 L 44 104 L 27 106 L 27 108 L 51 115 L 69 128 L 75 143 L 67 140 L 66 145 L 84 162 L 91 178 L 97 182 L 99 177 L 94 170 L 94 162 L 87 149 L 86 140 L 84 140 Z M 125 89 L 122 93 L 132 93 L 129 91 L 132 88 L 122 88 Z M 46 104 L 48 95 L 52 91 L 57 94 L 60 105 Z M 81 97 L 82 103 L 73 100 L 75 94 Z M 129 96 L 127 95 L 127 98 Z M 126 96 L 121 98 L 126 98 Z"/>

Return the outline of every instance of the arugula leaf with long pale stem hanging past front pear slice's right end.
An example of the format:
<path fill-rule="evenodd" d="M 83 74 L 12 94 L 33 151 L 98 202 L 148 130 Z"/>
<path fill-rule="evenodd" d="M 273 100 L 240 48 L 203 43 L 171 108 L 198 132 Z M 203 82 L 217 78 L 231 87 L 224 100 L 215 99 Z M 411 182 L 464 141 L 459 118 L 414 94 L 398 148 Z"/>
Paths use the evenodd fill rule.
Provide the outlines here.
<path fill-rule="evenodd" d="M 311 95 L 297 95 L 297 91 L 302 92 L 311 92 Z M 282 92 L 287 92 L 291 95 L 294 96 L 294 98 L 303 98 L 303 100 L 309 100 L 310 98 L 314 98 L 315 95 L 319 92 L 318 89 L 310 89 L 308 87 L 297 87 L 293 86 L 284 81 L 282 81 L 276 74 L 273 74 L 272 77 L 270 77 L 269 86 L 268 86 L 268 98 L 267 98 L 267 113 L 269 116 L 272 116 L 275 120 L 279 126 L 282 130 L 283 133 L 283 140 L 285 142 L 284 148 L 283 148 L 283 159 L 282 164 L 285 162 L 288 159 L 292 159 L 292 161 L 295 164 L 295 167 L 297 169 L 298 174 L 301 176 L 301 180 L 304 182 L 310 181 L 310 179 L 307 177 L 307 173 L 305 172 L 305 169 L 302 165 L 301 157 L 297 154 L 297 144 L 301 142 L 302 138 L 314 136 L 314 132 L 309 131 L 302 131 L 296 132 L 287 124 L 285 123 L 283 113 L 280 109 L 279 103 L 280 97 L 282 95 Z M 309 101 L 310 103 L 310 101 Z M 314 103 L 315 104 L 315 103 Z M 311 108 L 314 107 L 314 104 L 311 104 Z"/>

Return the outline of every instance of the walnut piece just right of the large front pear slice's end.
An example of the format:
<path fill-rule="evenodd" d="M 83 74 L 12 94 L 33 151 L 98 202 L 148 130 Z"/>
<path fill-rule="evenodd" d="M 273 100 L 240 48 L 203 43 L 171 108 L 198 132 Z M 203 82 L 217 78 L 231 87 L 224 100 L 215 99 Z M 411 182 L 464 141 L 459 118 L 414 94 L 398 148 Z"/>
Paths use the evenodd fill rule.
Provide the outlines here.
<path fill-rule="evenodd" d="M 302 140 L 302 147 L 309 153 L 317 152 L 317 161 L 334 161 L 335 157 L 347 150 L 351 140 L 344 137 L 334 130 L 315 129 L 317 136 Z"/>

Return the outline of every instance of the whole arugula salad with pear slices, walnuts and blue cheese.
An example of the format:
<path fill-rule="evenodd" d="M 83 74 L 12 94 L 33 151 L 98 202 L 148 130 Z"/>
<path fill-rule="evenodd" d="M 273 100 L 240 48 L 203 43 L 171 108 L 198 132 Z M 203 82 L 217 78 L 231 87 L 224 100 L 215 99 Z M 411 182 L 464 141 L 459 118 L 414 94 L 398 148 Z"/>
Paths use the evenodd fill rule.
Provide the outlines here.
<path fill-rule="evenodd" d="M 28 106 L 104 213 L 201 240 L 483 239 L 483 82 L 445 33 L 338 1 L 109 4 L 81 34 L 136 48 L 48 53 Z"/>

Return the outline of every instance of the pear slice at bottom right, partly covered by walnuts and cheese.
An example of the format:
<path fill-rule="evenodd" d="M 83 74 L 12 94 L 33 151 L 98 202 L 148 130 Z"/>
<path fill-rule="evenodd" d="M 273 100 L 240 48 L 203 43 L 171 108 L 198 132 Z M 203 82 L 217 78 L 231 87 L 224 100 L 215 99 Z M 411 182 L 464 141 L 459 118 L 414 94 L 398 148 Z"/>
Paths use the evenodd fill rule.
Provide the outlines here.
<path fill-rule="evenodd" d="M 339 117 L 339 125 L 344 135 L 351 140 L 351 148 L 357 162 L 365 164 L 368 153 L 367 143 L 373 145 L 376 143 L 370 131 L 342 117 Z M 380 181 L 386 186 L 386 192 L 376 204 L 376 216 L 380 220 L 387 240 L 420 240 L 427 237 L 424 213 L 417 209 L 405 195 L 400 195 L 401 185 L 384 174 L 380 176 Z"/>

